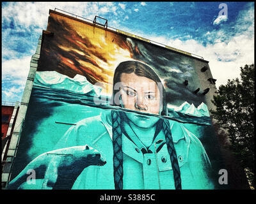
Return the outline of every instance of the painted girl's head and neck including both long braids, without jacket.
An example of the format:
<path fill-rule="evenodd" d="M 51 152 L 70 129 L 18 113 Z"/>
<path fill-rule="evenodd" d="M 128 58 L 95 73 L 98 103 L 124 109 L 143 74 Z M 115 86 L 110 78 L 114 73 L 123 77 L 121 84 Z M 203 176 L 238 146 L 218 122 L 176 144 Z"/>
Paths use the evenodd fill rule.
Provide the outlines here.
<path fill-rule="evenodd" d="M 120 85 L 117 85 L 118 82 L 120 82 Z M 121 62 L 115 69 L 113 84 L 113 105 L 142 113 L 167 115 L 163 84 L 157 74 L 146 64 L 138 61 Z M 133 139 L 132 142 L 137 147 L 140 147 L 143 154 L 155 152 L 150 147 L 154 147 L 154 142 L 159 141 L 160 136 L 158 135 L 162 135 L 161 138 L 165 138 L 172 161 L 175 189 L 181 189 L 180 169 L 175 148 L 173 147 L 168 120 L 130 112 L 112 111 L 111 115 L 113 122 L 113 157 L 116 189 L 123 188 L 123 154 L 122 140 L 120 140 L 122 133 L 130 140 Z M 135 138 L 138 138 L 137 143 Z M 158 140 L 156 140 L 157 138 Z M 164 140 L 160 141 L 164 143 Z"/>

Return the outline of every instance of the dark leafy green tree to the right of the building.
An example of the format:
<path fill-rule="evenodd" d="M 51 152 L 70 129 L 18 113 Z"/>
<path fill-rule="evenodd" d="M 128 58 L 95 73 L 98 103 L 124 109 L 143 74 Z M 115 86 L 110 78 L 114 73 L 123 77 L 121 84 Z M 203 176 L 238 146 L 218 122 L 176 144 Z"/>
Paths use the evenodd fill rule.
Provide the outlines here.
<path fill-rule="evenodd" d="M 248 180 L 255 189 L 254 164 L 254 64 L 241 67 L 239 78 L 220 85 L 212 103 L 211 111 L 216 124 L 227 131 L 230 149 L 246 171 Z"/>

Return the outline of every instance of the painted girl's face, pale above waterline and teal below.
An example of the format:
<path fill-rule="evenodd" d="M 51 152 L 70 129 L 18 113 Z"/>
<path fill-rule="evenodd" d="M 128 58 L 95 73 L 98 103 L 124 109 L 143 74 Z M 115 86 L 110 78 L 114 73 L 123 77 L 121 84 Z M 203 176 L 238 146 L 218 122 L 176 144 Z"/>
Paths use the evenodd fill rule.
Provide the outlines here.
<path fill-rule="evenodd" d="M 160 114 L 162 92 L 156 82 L 147 77 L 139 77 L 135 73 L 122 73 L 120 76 L 120 96 L 122 106 L 143 113 Z M 125 113 L 140 128 L 150 128 L 159 120 L 136 113 Z"/>

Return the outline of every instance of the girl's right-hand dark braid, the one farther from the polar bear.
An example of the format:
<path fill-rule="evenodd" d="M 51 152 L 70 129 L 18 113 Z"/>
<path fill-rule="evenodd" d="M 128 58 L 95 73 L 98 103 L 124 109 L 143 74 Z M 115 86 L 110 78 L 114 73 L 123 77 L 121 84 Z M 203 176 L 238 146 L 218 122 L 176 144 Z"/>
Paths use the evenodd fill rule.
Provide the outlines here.
<path fill-rule="evenodd" d="M 170 154 L 170 159 L 172 163 L 175 189 L 181 189 L 180 168 L 178 164 L 177 154 L 173 145 L 172 133 L 170 130 L 170 124 L 168 120 L 163 120 L 163 131 L 165 135 L 167 149 Z"/>

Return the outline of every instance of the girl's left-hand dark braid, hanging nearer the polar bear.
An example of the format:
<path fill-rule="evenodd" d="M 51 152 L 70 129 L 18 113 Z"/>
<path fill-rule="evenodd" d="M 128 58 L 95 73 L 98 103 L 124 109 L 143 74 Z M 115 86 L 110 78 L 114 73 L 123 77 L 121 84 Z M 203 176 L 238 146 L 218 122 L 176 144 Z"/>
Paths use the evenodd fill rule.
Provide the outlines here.
<path fill-rule="evenodd" d="M 120 116 L 118 111 L 112 110 L 112 132 L 113 132 L 113 166 L 115 189 L 123 189 L 123 153 L 122 153 L 122 131 L 120 127 Z"/>

